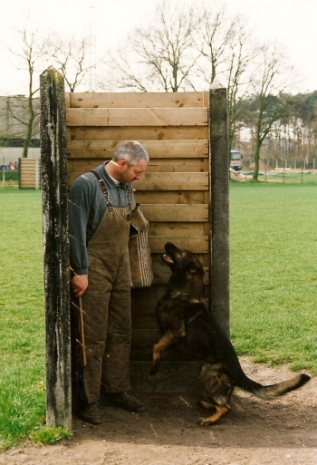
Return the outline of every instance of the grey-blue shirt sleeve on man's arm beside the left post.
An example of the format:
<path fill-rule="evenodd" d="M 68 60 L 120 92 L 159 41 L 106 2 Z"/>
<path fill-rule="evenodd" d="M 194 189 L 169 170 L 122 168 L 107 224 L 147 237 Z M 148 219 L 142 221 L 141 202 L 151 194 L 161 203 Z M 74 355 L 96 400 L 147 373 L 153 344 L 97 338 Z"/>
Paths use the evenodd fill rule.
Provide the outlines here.
<path fill-rule="evenodd" d="M 91 183 L 76 179 L 68 198 L 70 261 L 77 275 L 88 275 L 87 224 L 92 201 Z"/>

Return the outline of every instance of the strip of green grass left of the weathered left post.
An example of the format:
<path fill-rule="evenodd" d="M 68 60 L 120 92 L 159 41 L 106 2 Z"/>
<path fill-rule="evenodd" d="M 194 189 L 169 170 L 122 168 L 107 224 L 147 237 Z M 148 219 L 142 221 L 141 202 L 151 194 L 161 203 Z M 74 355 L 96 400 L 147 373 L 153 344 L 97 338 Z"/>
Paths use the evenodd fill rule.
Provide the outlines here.
<path fill-rule="evenodd" d="M 0 189 L 0 440 L 45 419 L 41 193 Z"/>

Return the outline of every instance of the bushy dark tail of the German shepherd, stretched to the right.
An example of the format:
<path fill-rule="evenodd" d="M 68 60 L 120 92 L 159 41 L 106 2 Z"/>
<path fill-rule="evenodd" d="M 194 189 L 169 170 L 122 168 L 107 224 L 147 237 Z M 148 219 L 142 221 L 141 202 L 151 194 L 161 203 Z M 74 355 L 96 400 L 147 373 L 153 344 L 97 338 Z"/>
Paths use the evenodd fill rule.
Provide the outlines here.
<path fill-rule="evenodd" d="M 260 383 L 255 383 L 255 381 L 251 380 L 247 376 L 244 376 L 240 381 L 239 386 L 245 391 L 252 392 L 254 395 L 256 395 L 256 397 L 270 400 L 302 387 L 310 379 L 311 377 L 307 374 L 298 374 L 290 380 L 283 381 L 282 383 L 264 386 Z"/>

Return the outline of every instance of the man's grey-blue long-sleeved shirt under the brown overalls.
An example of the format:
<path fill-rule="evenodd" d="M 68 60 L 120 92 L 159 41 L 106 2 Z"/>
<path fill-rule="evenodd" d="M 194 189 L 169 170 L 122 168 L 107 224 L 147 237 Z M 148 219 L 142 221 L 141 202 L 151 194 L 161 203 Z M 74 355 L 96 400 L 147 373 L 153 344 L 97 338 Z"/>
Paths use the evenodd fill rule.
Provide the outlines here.
<path fill-rule="evenodd" d="M 110 202 L 113 207 L 127 207 L 128 196 L 126 186 L 117 184 L 110 178 L 103 163 L 94 170 L 106 183 Z M 132 199 L 132 186 L 130 199 Z M 131 201 L 131 200 L 130 200 Z M 77 275 L 89 274 L 89 260 L 87 245 L 107 209 L 107 201 L 95 175 L 91 172 L 82 174 L 75 179 L 68 198 L 69 233 L 70 233 L 70 261 L 73 271 Z M 111 231 L 109 231 L 111 234 Z M 115 240 L 115 237 L 113 238 Z"/>

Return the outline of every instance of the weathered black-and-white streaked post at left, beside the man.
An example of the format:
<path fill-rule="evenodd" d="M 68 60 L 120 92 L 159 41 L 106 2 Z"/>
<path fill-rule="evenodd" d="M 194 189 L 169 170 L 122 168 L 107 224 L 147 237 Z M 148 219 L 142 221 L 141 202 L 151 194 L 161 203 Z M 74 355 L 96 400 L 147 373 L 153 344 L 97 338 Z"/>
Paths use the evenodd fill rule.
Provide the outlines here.
<path fill-rule="evenodd" d="M 46 423 L 72 426 L 69 242 L 64 84 L 40 78 L 43 267 L 46 325 Z"/>

